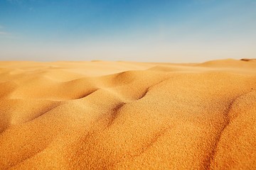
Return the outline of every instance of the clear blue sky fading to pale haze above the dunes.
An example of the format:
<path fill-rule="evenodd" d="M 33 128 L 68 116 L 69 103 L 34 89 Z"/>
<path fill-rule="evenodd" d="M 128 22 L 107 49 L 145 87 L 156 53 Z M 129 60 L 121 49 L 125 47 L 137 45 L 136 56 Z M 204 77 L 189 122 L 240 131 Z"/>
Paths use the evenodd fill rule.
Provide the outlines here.
<path fill-rule="evenodd" d="M 256 0 L 0 0 L 0 60 L 256 58 Z"/>

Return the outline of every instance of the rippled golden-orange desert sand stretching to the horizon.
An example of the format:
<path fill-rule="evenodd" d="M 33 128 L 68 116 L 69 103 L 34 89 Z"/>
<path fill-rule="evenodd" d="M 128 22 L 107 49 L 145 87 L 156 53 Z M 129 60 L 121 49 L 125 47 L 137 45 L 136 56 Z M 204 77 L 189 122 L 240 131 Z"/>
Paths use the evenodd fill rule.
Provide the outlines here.
<path fill-rule="evenodd" d="M 0 169 L 256 169 L 256 60 L 0 62 Z"/>

